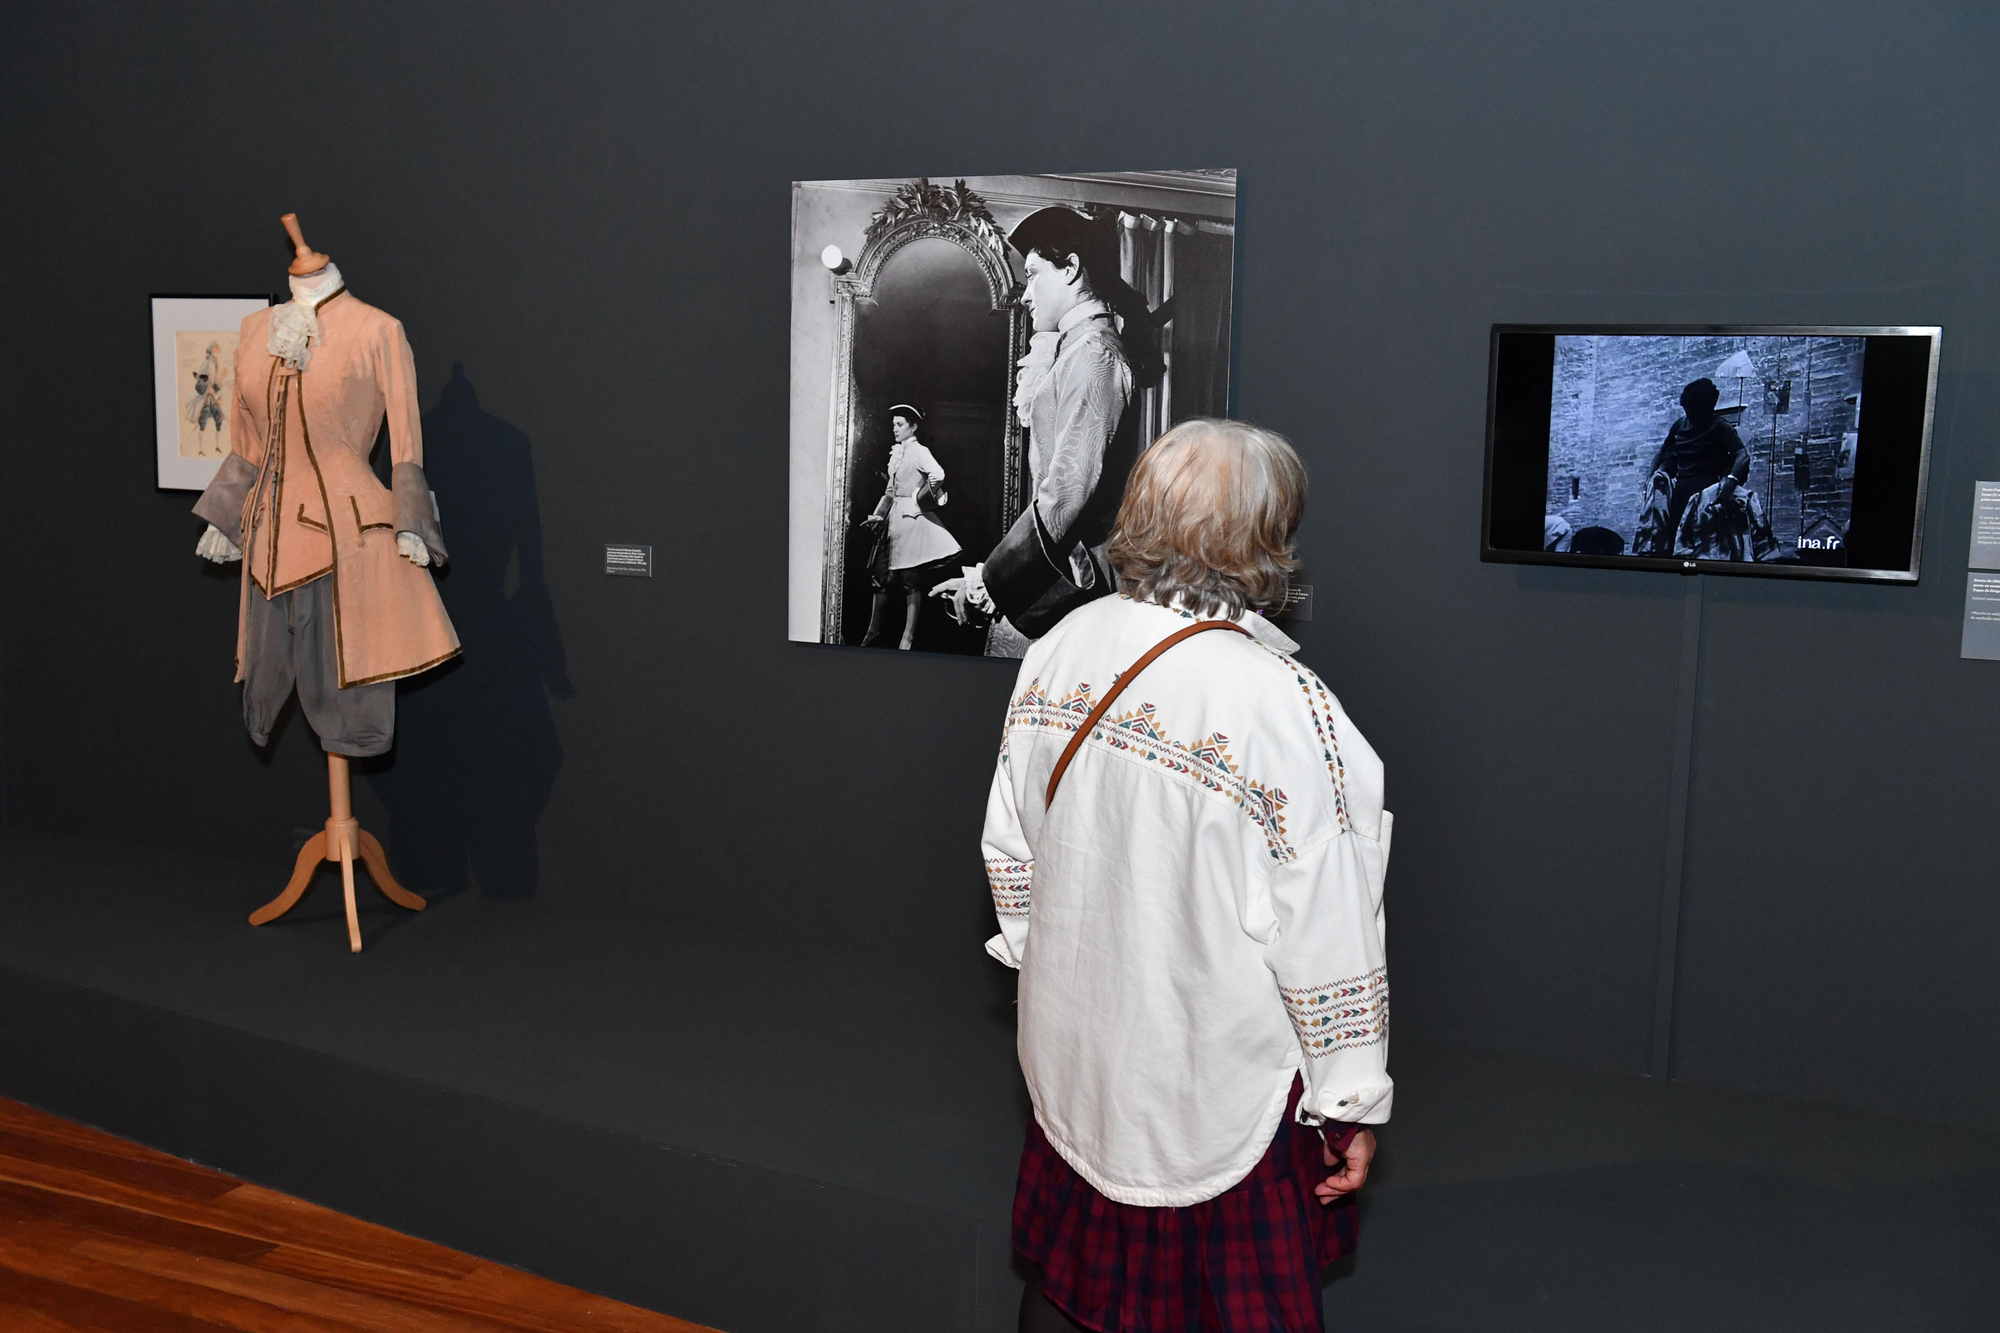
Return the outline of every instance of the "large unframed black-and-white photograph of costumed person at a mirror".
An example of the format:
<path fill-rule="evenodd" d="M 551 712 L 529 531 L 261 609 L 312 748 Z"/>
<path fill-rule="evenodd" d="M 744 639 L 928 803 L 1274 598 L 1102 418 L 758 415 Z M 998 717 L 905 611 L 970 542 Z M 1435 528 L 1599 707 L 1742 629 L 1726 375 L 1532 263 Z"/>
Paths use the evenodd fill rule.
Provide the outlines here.
<path fill-rule="evenodd" d="M 1236 172 L 792 186 L 788 636 L 1020 656 L 1116 590 L 1152 440 L 1228 414 Z"/>

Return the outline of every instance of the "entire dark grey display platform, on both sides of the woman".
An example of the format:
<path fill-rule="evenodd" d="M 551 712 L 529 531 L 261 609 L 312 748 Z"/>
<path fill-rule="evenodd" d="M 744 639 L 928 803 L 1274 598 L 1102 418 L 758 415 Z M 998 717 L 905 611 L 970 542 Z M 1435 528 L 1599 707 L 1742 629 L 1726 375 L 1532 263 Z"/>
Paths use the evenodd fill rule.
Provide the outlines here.
<path fill-rule="evenodd" d="M 1014 1327 L 1012 979 L 0 835 L 0 1095 L 728 1333 Z M 980 941 L 966 941 L 976 953 Z M 2000 1137 L 1398 1039 L 1330 1327 L 1992 1329 Z"/>

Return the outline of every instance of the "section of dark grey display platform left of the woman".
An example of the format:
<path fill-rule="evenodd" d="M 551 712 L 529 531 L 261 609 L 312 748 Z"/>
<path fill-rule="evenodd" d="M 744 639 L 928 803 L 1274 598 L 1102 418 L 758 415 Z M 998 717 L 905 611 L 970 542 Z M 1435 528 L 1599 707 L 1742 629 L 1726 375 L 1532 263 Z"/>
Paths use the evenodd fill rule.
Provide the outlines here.
<path fill-rule="evenodd" d="M 728 1333 L 1018 1299 L 1004 977 L 368 887 L 350 955 L 338 871 L 246 925 L 282 879 L 0 839 L 0 1093 Z"/>

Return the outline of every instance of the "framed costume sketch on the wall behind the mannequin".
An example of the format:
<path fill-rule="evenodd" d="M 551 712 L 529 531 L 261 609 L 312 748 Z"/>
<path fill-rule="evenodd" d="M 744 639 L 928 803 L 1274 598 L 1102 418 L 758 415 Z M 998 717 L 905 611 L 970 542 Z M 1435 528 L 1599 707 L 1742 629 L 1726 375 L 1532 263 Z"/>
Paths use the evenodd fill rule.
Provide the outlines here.
<path fill-rule="evenodd" d="M 236 332 L 270 296 L 152 298 L 152 414 L 160 490 L 206 490 L 230 454 Z"/>

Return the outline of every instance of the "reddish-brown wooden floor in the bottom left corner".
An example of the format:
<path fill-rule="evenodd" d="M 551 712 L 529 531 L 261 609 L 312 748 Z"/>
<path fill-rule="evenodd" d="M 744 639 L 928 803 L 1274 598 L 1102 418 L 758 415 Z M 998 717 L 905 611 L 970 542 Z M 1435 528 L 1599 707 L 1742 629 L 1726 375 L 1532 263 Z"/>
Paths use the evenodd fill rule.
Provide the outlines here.
<path fill-rule="evenodd" d="M 6 1333 L 708 1333 L 0 1099 Z"/>

